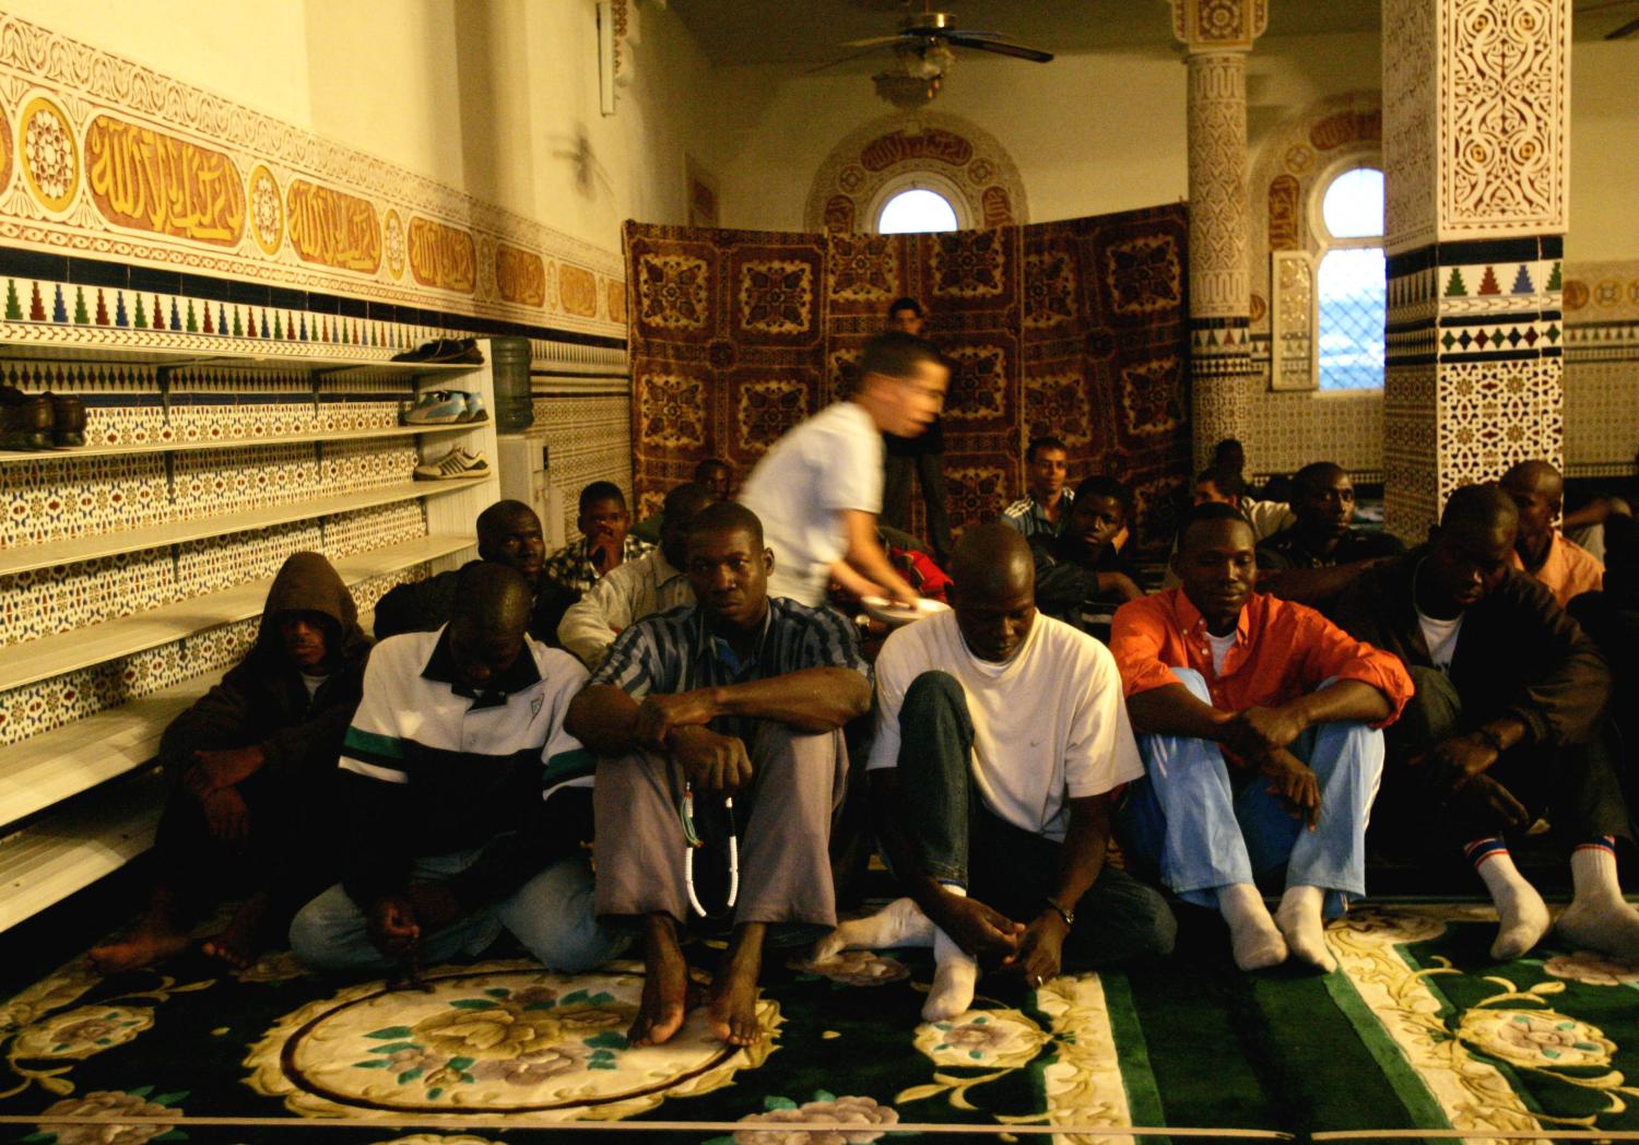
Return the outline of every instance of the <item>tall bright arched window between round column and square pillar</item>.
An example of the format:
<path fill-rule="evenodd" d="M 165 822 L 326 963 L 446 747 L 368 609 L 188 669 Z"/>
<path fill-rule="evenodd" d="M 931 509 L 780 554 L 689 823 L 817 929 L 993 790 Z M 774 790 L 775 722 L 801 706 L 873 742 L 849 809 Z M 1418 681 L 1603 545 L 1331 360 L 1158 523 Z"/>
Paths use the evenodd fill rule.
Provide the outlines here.
<path fill-rule="evenodd" d="M 1314 287 L 1319 388 L 1378 390 L 1388 310 L 1383 172 L 1351 167 L 1334 175 L 1321 195 L 1314 233 L 1323 251 Z"/>

